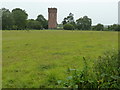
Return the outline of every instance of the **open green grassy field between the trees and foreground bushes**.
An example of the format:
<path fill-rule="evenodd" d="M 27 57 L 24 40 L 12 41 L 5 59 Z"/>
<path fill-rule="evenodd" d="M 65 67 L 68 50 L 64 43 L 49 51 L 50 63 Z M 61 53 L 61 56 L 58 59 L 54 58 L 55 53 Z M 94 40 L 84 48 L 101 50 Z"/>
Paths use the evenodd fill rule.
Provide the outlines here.
<path fill-rule="evenodd" d="M 83 68 L 118 48 L 118 32 L 3 31 L 3 88 L 52 87 L 51 79 L 65 79 L 68 68 Z"/>

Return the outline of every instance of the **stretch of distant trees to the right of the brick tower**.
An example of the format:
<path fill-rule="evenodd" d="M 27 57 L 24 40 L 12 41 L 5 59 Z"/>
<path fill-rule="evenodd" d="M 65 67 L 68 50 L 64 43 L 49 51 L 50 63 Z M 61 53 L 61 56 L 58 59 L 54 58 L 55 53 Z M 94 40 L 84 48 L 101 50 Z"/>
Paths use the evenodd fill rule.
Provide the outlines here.
<path fill-rule="evenodd" d="M 92 26 L 92 19 L 88 16 L 81 17 L 74 20 L 74 15 L 70 13 L 67 17 L 62 21 L 63 29 L 65 30 L 97 30 L 97 31 L 120 31 L 120 25 L 113 24 L 104 26 L 101 23 Z"/>

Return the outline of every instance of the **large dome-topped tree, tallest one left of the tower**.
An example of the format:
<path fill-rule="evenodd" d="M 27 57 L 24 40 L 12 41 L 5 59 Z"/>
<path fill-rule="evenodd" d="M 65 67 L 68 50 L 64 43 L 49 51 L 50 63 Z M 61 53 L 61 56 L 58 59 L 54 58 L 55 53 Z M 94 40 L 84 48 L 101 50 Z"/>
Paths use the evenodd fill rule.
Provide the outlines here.
<path fill-rule="evenodd" d="M 15 21 L 16 29 L 25 29 L 28 17 L 26 11 L 20 8 L 15 8 L 12 10 L 12 15 Z"/>

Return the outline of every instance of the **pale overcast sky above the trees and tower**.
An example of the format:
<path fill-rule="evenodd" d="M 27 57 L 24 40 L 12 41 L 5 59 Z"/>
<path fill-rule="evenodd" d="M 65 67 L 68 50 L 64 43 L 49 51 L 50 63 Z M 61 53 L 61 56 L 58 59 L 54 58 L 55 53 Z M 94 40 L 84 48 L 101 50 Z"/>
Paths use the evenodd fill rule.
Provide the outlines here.
<path fill-rule="evenodd" d="M 14 8 L 24 9 L 29 19 L 36 19 L 42 14 L 48 19 L 48 8 L 58 9 L 57 22 L 61 23 L 63 18 L 70 12 L 74 14 L 75 20 L 87 15 L 92 19 L 93 25 L 102 23 L 110 25 L 118 23 L 118 1 L 119 0 L 0 0 L 0 8 L 10 11 Z"/>

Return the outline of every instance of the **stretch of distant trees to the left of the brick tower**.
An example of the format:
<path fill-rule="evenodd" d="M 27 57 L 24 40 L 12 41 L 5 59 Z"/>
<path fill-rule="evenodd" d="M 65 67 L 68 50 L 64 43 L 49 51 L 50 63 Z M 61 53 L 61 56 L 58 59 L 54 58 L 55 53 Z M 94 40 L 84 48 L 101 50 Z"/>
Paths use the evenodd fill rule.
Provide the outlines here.
<path fill-rule="evenodd" d="M 3 30 L 48 29 L 48 21 L 41 14 L 34 20 L 28 19 L 26 11 L 20 8 L 15 8 L 11 12 L 6 8 L 1 10 Z"/>

